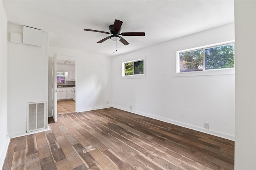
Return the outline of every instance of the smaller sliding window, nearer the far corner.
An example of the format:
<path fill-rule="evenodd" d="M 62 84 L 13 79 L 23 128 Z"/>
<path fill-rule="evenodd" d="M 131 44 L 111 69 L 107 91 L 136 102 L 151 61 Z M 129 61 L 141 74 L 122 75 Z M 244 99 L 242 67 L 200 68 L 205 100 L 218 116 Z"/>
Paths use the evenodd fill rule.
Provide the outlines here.
<path fill-rule="evenodd" d="M 122 78 L 145 78 L 145 60 L 136 59 L 122 63 Z"/>

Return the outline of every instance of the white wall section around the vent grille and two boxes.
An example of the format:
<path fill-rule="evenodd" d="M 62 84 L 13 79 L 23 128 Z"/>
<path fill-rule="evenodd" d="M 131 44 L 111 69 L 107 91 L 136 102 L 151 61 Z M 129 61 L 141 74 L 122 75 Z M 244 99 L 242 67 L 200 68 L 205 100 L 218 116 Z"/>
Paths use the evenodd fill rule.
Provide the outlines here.
<path fill-rule="evenodd" d="M 8 23 L 9 38 L 10 32 L 22 34 L 23 27 Z M 42 47 L 8 41 L 8 122 L 16 137 L 26 135 L 27 103 L 48 100 L 48 33 L 42 31 Z"/>

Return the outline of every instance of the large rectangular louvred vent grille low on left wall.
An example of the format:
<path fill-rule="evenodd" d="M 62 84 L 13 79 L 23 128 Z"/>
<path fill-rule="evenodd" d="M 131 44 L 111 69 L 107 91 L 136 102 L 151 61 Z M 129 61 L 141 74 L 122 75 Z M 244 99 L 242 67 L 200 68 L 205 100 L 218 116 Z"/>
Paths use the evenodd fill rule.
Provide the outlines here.
<path fill-rule="evenodd" d="M 27 104 L 27 132 L 46 128 L 46 102 Z"/>

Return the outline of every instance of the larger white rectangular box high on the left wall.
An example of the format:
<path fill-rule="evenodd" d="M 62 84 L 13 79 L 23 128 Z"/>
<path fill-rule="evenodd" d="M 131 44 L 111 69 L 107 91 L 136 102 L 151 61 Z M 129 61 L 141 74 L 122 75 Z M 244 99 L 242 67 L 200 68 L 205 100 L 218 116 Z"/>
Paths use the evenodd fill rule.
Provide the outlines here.
<path fill-rule="evenodd" d="M 23 43 L 42 46 L 42 30 L 23 26 Z"/>

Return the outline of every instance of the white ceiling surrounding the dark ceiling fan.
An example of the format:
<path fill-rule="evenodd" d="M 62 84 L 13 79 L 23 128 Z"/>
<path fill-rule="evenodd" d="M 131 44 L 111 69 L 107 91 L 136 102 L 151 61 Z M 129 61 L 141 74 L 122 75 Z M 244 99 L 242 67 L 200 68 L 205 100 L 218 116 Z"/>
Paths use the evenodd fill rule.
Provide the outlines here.
<path fill-rule="evenodd" d="M 116 56 L 171 39 L 234 22 L 233 0 L 3 0 L 10 23 L 49 32 L 52 46 Z M 114 20 L 121 32 L 145 32 L 145 37 L 123 36 L 129 45 L 113 41 L 108 32 Z"/>

